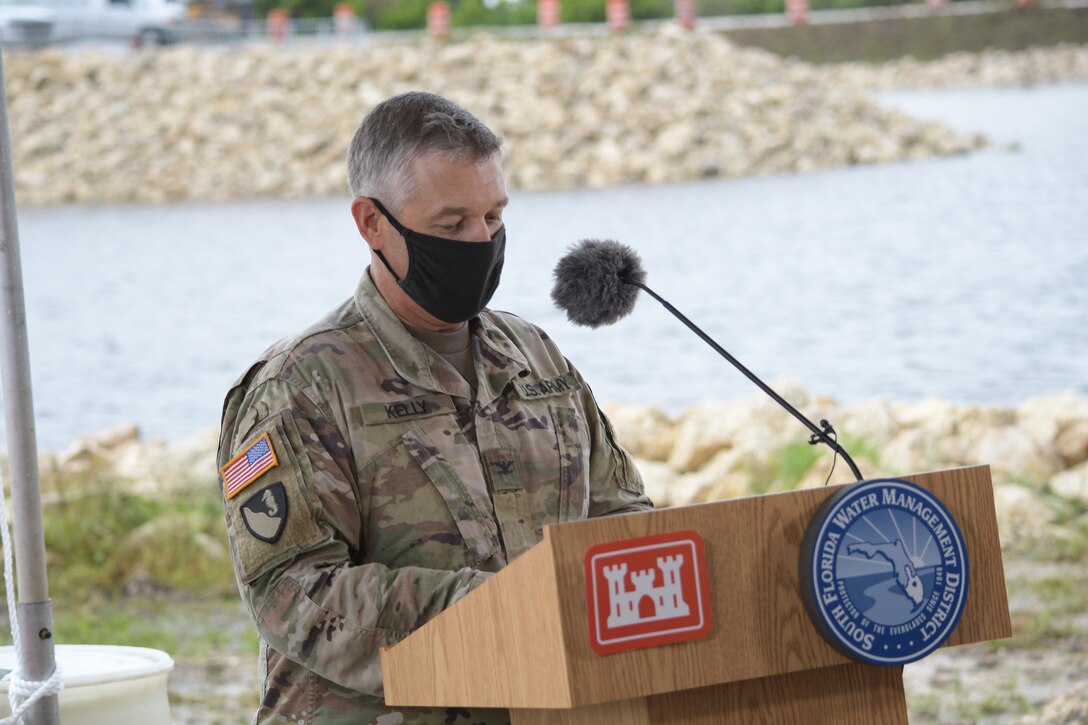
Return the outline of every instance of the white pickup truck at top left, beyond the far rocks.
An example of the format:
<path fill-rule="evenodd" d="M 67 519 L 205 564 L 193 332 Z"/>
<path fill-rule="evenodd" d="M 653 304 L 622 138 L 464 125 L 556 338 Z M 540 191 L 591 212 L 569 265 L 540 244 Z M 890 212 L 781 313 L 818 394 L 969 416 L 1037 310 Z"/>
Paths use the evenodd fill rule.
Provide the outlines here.
<path fill-rule="evenodd" d="M 0 0 L 2 1 L 2 0 Z M 181 0 L 38 0 L 57 13 L 54 41 L 128 40 L 138 46 L 177 39 Z"/>

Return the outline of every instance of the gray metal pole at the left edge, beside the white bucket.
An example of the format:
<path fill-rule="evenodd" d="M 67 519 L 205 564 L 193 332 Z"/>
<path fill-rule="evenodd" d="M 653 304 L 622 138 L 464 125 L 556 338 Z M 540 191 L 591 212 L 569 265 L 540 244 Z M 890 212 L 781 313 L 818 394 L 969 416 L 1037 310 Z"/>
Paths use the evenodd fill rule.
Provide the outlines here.
<path fill-rule="evenodd" d="M 46 538 L 41 524 L 38 444 L 30 393 L 23 270 L 15 220 L 15 179 L 8 125 L 8 91 L 0 54 L 0 367 L 15 529 L 18 620 L 22 632 L 20 676 L 41 681 L 55 668 L 53 616 L 46 576 Z M 2 495 L 2 492 L 0 492 Z M 27 712 L 33 725 L 60 723 L 57 696 L 38 700 Z"/>

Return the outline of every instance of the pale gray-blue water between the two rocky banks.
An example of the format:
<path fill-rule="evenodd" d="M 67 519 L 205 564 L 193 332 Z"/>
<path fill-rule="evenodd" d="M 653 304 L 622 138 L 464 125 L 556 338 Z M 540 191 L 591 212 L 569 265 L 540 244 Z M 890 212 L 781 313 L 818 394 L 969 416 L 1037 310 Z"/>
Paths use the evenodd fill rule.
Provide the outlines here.
<path fill-rule="evenodd" d="M 1088 86 L 880 98 L 997 145 L 794 176 L 516 193 L 493 307 L 548 330 L 602 400 L 679 411 L 752 395 L 646 296 L 596 331 L 552 307 L 566 248 L 610 237 L 767 380 L 843 402 L 1088 395 Z M 121 422 L 168 439 L 217 426 L 232 380 L 346 298 L 366 265 L 346 198 L 30 209 L 20 231 L 44 450 Z"/>

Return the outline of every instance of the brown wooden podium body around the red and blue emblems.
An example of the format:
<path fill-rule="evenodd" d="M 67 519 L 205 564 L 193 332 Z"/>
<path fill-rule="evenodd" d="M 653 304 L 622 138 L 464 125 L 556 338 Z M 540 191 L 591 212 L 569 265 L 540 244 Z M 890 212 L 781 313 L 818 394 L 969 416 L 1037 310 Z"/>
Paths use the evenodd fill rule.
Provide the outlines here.
<path fill-rule="evenodd" d="M 947 644 L 1012 636 L 989 467 L 903 478 L 944 503 L 966 543 L 970 588 Z M 906 723 L 902 667 L 841 655 L 801 599 L 801 541 L 837 489 L 547 527 L 541 543 L 491 581 L 382 651 L 386 702 L 509 708 L 511 725 Z M 586 550 L 687 529 L 705 542 L 710 635 L 593 652 Z"/>

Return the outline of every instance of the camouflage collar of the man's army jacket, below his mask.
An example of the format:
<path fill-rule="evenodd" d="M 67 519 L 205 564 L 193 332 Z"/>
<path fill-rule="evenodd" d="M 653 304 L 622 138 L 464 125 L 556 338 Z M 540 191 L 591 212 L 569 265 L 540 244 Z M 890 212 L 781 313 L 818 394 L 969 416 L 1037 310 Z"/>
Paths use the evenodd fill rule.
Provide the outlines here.
<path fill-rule="evenodd" d="M 374 286 L 369 268 L 362 273 L 355 291 L 355 304 L 401 378 L 429 391 L 472 397 L 468 383 L 445 360 L 408 332 Z M 529 371 L 526 356 L 506 332 L 495 324 L 492 315 L 484 310 L 479 317 L 469 320 L 472 357 L 477 366 L 477 397 L 481 402 L 498 397 L 510 380 Z"/>

